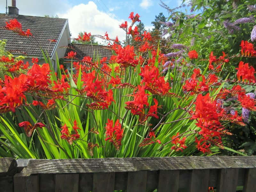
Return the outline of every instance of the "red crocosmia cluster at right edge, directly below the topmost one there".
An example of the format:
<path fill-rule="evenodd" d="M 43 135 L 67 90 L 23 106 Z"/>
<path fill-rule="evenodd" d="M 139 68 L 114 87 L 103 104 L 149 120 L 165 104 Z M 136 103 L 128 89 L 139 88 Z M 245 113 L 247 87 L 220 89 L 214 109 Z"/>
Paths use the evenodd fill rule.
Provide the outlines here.
<path fill-rule="evenodd" d="M 238 65 L 238 69 L 236 75 L 237 75 L 237 79 L 240 81 L 241 80 L 241 76 L 242 76 L 242 81 L 246 80 L 246 82 L 250 82 L 250 83 L 256 83 L 255 80 L 255 70 L 254 68 L 251 66 L 249 67 L 248 63 L 245 63 L 243 61 L 239 62 Z"/>

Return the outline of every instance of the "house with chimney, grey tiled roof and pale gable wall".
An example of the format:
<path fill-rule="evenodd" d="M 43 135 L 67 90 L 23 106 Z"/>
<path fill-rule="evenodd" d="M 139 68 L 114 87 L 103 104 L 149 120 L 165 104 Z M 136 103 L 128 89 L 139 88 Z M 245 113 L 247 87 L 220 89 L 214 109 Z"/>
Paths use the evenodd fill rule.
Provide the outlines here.
<path fill-rule="evenodd" d="M 4 27 L 5 22 L 9 22 L 16 18 L 22 25 L 22 30 L 30 29 L 30 32 L 35 37 L 30 36 L 24 38 L 14 34 L 12 31 L 0 29 L 0 40 L 6 39 L 6 50 L 12 52 L 14 56 L 22 55 L 19 52 L 25 52 L 30 58 L 24 61 L 31 61 L 31 58 L 38 58 L 38 64 L 45 63 L 42 49 L 49 54 L 49 58 L 52 61 L 52 65 L 56 71 L 56 55 L 58 58 L 64 57 L 66 48 L 58 49 L 58 47 L 67 46 L 70 44 L 70 33 L 68 27 L 68 19 L 60 18 L 47 18 L 19 15 L 19 9 L 16 7 L 16 1 L 12 1 L 12 6 L 9 6 L 9 14 L 0 13 L 0 26 Z M 56 40 L 57 42 L 50 43 L 49 39 Z M 19 51 L 19 52 L 17 52 Z"/>

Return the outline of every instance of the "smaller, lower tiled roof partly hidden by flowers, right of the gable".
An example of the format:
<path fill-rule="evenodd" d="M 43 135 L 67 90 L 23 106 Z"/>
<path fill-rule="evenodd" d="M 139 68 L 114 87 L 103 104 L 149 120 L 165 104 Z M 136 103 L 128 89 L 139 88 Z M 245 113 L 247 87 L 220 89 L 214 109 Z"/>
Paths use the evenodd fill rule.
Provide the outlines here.
<path fill-rule="evenodd" d="M 69 47 L 72 47 L 73 49 L 67 49 L 66 56 L 68 56 L 68 52 L 73 51 L 76 52 L 76 58 L 79 60 L 82 60 L 85 56 L 90 56 L 91 58 L 96 57 L 98 54 L 100 56 L 100 59 L 103 57 L 108 57 L 108 60 L 112 56 L 112 51 L 109 49 L 106 49 L 106 46 L 102 45 L 85 45 L 85 44 L 69 44 Z M 93 54 L 93 52 L 95 54 Z"/>

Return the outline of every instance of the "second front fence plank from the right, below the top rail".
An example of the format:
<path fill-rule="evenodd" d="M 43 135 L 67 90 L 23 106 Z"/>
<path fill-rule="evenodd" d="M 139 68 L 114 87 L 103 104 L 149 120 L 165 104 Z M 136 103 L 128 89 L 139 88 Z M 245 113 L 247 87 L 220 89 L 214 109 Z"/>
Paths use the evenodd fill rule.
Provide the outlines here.
<path fill-rule="evenodd" d="M 237 168 L 221 169 L 218 175 L 217 191 L 236 191 L 238 172 Z"/>

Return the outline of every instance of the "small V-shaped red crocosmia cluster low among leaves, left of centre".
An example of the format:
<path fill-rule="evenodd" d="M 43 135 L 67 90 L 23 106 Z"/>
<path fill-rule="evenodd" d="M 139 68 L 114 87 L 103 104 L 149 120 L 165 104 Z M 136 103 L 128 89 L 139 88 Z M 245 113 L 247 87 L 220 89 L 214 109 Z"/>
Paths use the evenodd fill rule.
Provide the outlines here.
<path fill-rule="evenodd" d="M 74 126 L 72 126 L 71 131 L 69 131 L 68 126 L 66 124 L 64 124 L 64 126 L 62 126 L 61 129 L 62 135 L 60 136 L 60 138 L 67 140 L 70 145 L 73 143 L 73 140 L 77 140 L 80 138 L 77 129 L 81 129 L 77 127 L 76 120 L 74 121 Z"/>

